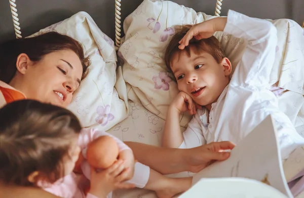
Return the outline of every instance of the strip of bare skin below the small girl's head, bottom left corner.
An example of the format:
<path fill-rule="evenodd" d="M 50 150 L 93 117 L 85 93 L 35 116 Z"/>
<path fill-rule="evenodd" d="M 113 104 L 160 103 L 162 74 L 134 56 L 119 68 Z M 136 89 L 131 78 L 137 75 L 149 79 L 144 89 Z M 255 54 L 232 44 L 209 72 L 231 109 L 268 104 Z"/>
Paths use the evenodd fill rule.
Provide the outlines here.
<path fill-rule="evenodd" d="M 45 190 L 35 187 L 22 187 L 22 186 L 2 186 L 0 185 L 0 197 L 2 198 L 58 198 Z"/>

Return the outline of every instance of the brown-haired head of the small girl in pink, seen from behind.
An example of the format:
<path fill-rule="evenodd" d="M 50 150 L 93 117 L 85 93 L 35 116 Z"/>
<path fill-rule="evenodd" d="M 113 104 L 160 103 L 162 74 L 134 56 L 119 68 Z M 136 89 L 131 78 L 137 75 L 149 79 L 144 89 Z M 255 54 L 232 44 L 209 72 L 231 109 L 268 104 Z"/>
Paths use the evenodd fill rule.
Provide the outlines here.
<path fill-rule="evenodd" d="M 32 100 L 0 109 L 0 180 L 36 186 L 71 173 L 78 159 L 81 125 L 61 107 Z"/>

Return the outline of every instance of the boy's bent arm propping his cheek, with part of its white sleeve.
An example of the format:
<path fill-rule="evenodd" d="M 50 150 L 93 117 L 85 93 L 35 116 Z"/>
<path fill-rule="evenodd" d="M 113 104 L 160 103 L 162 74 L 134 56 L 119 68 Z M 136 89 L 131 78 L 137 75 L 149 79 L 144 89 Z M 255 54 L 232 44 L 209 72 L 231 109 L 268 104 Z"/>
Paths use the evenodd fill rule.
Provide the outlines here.
<path fill-rule="evenodd" d="M 195 144 L 201 146 L 205 142 L 202 136 L 202 131 L 199 122 L 195 118 L 189 122 L 186 131 L 182 134 L 179 126 L 179 115 L 185 111 L 189 111 L 191 114 L 196 114 L 195 103 L 192 98 L 184 92 L 179 92 L 175 97 L 175 100 L 171 103 L 165 122 L 165 129 L 163 133 L 163 147 L 178 148 L 186 147 L 189 140 L 199 142 Z M 194 130 L 193 130 L 194 129 Z M 197 141 L 198 140 L 198 141 Z M 185 145 L 186 144 L 186 145 Z"/>

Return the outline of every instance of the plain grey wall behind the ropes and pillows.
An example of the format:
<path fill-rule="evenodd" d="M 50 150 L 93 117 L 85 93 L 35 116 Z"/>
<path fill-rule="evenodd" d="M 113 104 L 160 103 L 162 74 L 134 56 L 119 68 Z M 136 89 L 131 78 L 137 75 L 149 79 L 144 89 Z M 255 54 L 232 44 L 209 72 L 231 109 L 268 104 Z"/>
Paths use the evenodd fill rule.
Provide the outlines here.
<path fill-rule="evenodd" d="M 122 0 L 122 19 L 142 0 Z M 216 0 L 174 0 L 177 4 L 214 15 Z M 115 38 L 114 0 L 17 0 L 22 36 L 26 37 L 71 15 L 85 11 L 110 38 Z M 258 18 L 289 18 L 299 24 L 304 20 L 304 0 L 223 0 L 221 15 L 228 9 Z M 122 20 L 123 21 L 123 20 Z M 14 39 L 9 0 L 0 0 L 0 43 Z"/>

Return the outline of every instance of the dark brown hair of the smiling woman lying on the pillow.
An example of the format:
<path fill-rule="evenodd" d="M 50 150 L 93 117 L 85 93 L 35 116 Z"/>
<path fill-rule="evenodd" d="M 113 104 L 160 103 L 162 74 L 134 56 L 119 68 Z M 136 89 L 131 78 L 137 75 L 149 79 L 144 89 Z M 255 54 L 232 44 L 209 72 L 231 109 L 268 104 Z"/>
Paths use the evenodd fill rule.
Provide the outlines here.
<path fill-rule="evenodd" d="M 22 39 L 14 39 L 0 44 L 0 80 L 9 83 L 15 76 L 17 57 L 21 53 L 28 55 L 32 61 L 40 61 L 45 55 L 59 50 L 75 52 L 83 66 L 84 79 L 90 65 L 89 57 L 85 57 L 82 45 L 73 38 L 50 31 L 44 34 Z"/>

